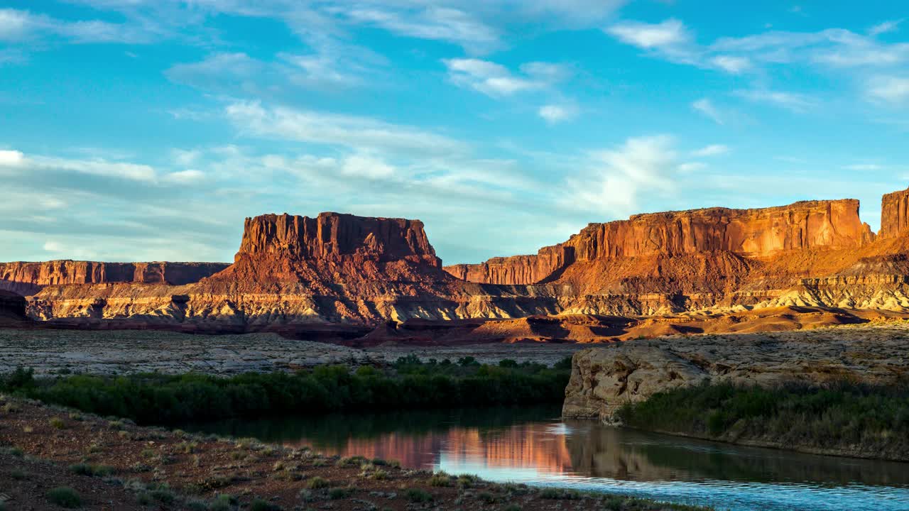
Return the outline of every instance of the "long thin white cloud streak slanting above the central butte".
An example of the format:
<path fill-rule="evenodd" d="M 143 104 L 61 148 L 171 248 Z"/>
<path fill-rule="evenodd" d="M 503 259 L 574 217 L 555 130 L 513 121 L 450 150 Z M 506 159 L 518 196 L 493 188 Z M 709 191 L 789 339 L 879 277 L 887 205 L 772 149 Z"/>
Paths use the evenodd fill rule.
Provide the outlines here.
<path fill-rule="evenodd" d="M 259 102 L 232 103 L 225 115 L 248 135 L 412 155 L 452 155 L 466 150 L 463 143 L 444 135 L 370 117 L 265 107 Z"/>

